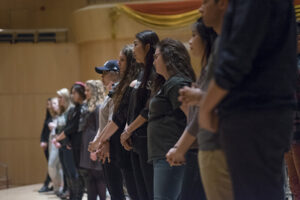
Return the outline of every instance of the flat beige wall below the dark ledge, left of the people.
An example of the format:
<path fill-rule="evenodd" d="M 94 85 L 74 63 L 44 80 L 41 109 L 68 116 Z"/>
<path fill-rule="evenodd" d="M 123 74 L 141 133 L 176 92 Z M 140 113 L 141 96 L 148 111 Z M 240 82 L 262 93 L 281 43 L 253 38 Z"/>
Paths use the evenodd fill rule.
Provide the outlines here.
<path fill-rule="evenodd" d="M 12 185 L 44 180 L 46 100 L 79 78 L 78 54 L 75 44 L 0 44 L 0 162 Z"/>

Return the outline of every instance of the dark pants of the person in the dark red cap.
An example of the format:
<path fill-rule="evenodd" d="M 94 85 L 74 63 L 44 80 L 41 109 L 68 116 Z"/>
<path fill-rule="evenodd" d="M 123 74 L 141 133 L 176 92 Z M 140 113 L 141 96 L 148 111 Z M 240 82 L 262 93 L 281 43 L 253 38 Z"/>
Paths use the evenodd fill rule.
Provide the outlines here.
<path fill-rule="evenodd" d="M 66 175 L 71 200 L 81 200 L 84 191 L 84 181 L 76 167 L 73 151 L 65 146 L 59 150 L 63 172 Z"/>

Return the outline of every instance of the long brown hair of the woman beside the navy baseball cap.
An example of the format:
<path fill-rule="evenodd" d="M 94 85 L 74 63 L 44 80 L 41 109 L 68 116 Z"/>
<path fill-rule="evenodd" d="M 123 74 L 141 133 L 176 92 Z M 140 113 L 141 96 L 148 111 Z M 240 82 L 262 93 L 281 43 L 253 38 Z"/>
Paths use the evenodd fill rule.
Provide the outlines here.
<path fill-rule="evenodd" d="M 127 87 L 136 79 L 141 68 L 133 56 L 133 45 L 126 45 L 121 53 L 126 57 L 126 69 L 113 95 L 114 112 L 119 108 Z"/>

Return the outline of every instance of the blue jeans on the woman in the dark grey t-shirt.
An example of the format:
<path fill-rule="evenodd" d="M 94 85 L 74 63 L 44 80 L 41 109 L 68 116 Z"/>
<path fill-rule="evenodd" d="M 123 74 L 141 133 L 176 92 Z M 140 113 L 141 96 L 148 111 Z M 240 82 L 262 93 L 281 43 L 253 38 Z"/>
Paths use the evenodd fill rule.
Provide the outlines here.
<path fill-rule="evenodd" d="M 180 196 L 185 166 L 171 167 L 165 159 L 155 160 L 154 200 L 177 200 Z"/>

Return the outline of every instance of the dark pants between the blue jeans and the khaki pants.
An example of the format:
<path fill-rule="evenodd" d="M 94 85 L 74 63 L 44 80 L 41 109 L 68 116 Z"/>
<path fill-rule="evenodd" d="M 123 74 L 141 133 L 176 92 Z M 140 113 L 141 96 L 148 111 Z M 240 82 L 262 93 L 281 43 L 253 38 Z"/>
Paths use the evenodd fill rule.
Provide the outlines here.
<path fill-rule="evenodd" d="M 186 153 L 184 179 L 182 183 L 181 200 L 206 200 L 198 166 L 198 149 Z"/>

